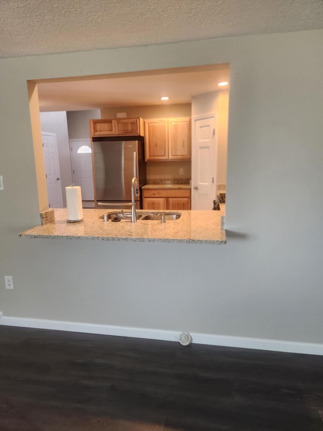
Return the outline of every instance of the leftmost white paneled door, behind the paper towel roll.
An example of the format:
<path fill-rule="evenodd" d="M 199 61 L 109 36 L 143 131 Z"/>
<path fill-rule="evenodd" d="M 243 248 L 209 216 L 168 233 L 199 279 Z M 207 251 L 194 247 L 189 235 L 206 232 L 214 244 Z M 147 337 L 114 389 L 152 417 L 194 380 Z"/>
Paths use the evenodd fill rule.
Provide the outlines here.
<path fill-rule="evenodd" d="M 41 133 L 49 208 L 63 208 L 63 196 L 55 133 Z"/>

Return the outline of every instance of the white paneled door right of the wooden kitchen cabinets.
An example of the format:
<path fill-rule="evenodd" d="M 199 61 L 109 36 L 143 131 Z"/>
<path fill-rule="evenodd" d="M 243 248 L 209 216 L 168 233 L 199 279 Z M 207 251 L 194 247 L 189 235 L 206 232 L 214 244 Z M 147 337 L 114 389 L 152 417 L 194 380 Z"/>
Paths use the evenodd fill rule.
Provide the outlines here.
<path fill-rule="evenodd" d="M 193 119 L 192 210 L 212 210 L 217 193 L 216 116 Z"/>

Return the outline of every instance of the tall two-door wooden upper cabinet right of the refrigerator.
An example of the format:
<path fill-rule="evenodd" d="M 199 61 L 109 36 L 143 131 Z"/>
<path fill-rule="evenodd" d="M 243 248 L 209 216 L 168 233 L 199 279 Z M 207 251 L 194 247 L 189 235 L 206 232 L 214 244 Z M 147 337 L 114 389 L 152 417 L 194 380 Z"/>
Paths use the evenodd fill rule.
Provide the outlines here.
<path fill-rule="evenodd" d="M 146 160 L 190 160 L 191 119 L 154 118 L 145 120 Z"/>

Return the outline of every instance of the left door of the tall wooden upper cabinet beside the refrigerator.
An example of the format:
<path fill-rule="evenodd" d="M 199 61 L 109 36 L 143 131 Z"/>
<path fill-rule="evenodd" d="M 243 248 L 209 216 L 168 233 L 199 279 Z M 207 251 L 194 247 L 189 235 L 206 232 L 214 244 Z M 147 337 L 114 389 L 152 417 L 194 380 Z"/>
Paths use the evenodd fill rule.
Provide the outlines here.
<path fill-rule="evenodd" d="M 168 160 L 167 120 L 145 121 L 145 150 L 146 160 Z"/>

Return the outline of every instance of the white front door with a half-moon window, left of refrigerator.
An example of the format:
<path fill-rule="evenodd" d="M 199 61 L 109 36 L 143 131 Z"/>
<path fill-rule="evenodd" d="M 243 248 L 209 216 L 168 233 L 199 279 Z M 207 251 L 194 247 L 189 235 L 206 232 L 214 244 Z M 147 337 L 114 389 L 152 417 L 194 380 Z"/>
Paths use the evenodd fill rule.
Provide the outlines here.
<path fill-rule="evenodd" d="M 70 139 L 72 177 L 81 186 L 82 201 L 94 201 L 90 139 Z"/>

